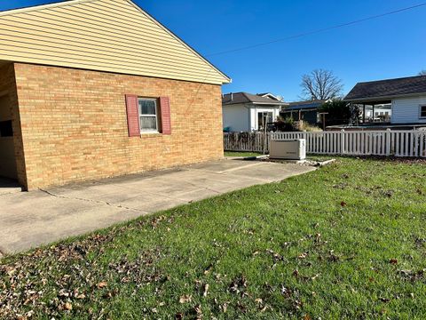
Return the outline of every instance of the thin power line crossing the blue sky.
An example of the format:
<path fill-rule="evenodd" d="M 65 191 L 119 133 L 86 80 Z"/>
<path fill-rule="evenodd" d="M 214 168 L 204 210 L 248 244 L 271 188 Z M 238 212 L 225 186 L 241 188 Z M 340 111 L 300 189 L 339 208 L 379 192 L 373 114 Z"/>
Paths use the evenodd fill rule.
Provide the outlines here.
<path fill-rule="evenodd" d="M 399 13 L 399 12 L 406 12 L 406 11 L 409 11 L 409 10 L 417 9 L 417 8 L 422 7 L 422 6 L 426 6 L 426 3 L 412 5 L 412 6 L 402 8 L 402 9 L 398 9 L 398 10 L 395 10 L 395 11 L 392 11 L 392 12 L 385 12 L 385 13 L 382 13 L 382 14 L 376 14 L 374 16 L 370 16 L 370 17 L 367 17 L 367 18 L 359 19 L 359 20 L 353 20 L 351 22 L 346 22 L 346 23 L 335 25 L 335 26 L 328 27 L 328 28 L 320 28 L 320 29 L 317 29 L 317 30 L 304 32 L 304 33 L 294 35 L 294 36 L 286 36 L 286 37 L 283 37 L 283 38 L 280 38 L 280 39 L 276 39 L 276 40 L 272 40 L 272 41 L 268 41 L 268 42 L 264 42 L 264 43 L 252 44 L 252 45 L 248 45 L 248 46 L 245 46 L 245 47 L 227 50 L 227 51 L 223 51 L 223 52 L 211 53 L 211 54 L 207 54 L 206 57 L 212 57 L 212 56 L 217 56 L 217 55 L 222 55 L 222 54 L 232 53 L 232 52 L 241 52 L 241 51 L 244 51 L 244 50 L 254 49 L 254 48 L 264 46 L 264 45 L 268 45 L 268 44 L 276 44 L 276 43 L 279 43 L 279 42 L 282 42 L 282 41 L 300 38 L 300 37 L 303 37 L 303 36 L 312 36 L 312 35 L 315 35 L 315 34 L 318 34 L 318 33 L 321 33 L 321 32 L 325 32 L 325 31 L 329 31 L 329 30 L 333 30 L 333 29 L 336 29 L 336 28 L 348 27 L 348 26 L 358 24 L 358 23 L 361 23 L 361 22 L 365 22 L 365 21 L 368 21 L 368 20 L 375 20 L 375 19 L 383 18 L 383 17 L 389 16 L 391 14 L 395 14 L 395 13 Z"/>

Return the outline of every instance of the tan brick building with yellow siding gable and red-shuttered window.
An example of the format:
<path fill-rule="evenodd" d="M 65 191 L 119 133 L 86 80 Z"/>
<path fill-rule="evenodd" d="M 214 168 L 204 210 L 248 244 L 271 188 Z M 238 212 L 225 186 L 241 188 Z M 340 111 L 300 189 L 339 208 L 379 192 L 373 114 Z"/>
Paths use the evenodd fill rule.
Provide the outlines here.
<path fill-rule="evenodd" d="M 26 189 L 223 157 L 230 78 L 128 0 L 0 12 L 0 175 Z"/>

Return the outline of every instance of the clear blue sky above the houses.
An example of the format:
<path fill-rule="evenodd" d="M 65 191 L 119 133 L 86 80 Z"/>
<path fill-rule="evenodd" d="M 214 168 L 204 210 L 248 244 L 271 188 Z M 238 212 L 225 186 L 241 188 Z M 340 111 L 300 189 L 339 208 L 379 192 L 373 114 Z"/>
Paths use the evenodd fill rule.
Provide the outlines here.
<path fill-rule="evenodd" d="M 233 78 L 224 92 L 273 92 L 297 100 L 301 76 L 333 70 L 345 92 L 359 81 L 426 69 L 426 6 L 351 27 L 209 56 L 390 12 L 424 0 L 136 0 Z M 56 1 L 9 0 L 0 10 Z"/>

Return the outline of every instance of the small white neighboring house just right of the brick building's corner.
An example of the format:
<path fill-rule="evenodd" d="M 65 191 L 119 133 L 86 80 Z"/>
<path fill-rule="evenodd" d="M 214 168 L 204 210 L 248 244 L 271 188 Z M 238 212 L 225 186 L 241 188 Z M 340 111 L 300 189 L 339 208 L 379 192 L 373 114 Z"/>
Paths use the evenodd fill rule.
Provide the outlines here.
<path fill-rule="evenodd" d="M 272 93 L 227 93 L 222 98 L 224 129 L 228 132 L 253 132 L 264 129 L 280 116 L 288 104 Z"/>

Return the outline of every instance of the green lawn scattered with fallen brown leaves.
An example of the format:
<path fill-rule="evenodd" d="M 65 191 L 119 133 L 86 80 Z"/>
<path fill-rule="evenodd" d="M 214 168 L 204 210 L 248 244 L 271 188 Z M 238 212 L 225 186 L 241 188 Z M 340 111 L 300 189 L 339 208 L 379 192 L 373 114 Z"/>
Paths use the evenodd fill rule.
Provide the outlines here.
<path fill-rule="evenodd" d="M 424 319 L 425 179 L 341 158 L 7 257 L 0 318 Z"/>

